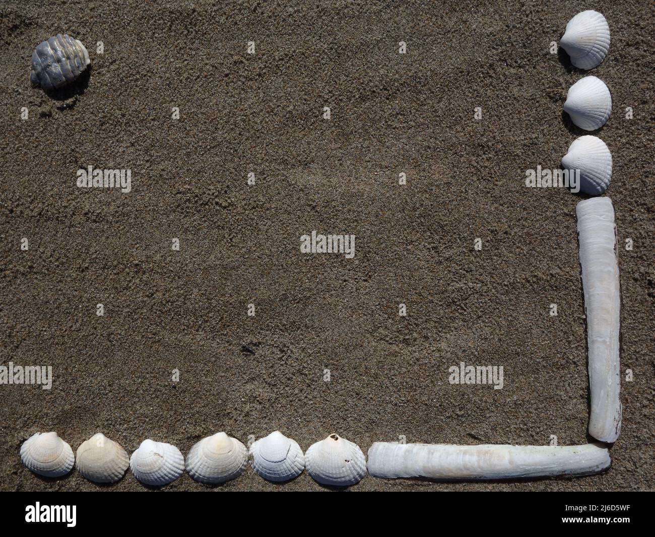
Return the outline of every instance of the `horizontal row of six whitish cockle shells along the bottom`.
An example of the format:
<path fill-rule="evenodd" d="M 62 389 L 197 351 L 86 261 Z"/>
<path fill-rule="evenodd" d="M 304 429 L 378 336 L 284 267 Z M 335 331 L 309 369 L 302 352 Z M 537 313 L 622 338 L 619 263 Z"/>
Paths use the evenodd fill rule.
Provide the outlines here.
<path fill-rule="evenodd" d="M 35 433 L 20 447 L 23 464 L 44 477 L 62 477 L 77 468 L 95 483 L 119 481 L 128 467 L 144 485 L 159 487 L 175 481 L 186 469 L 200 483 L 225 483 L 241 475 L 252 458 L 252 467 L 269 481 L 289 481 L 307 468 L 322 485 L 355 485 L 366 473 L 366 458 L 358 445 L 337 434 L 311 445 L 307 452 L 280 431 L 255 441 L 250 450 L 226 433 L 203 438 L 187 458 L 174 445 L 144 440 L 128 456 L 121 445 L 97 433 L 73 454 L 56 432 Z"/>

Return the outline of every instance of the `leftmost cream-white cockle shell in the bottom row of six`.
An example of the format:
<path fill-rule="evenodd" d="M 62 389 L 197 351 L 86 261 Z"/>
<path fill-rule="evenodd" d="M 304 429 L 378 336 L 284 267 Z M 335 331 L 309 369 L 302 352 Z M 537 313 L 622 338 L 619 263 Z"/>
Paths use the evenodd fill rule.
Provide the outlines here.
<path fill-rule="evenodd" d="M 75 464 L 71 447 L 57 433 L 35 433 L 20 447 L 20 460 L 34 473 L 44 477 L 66 475 Z"/>

